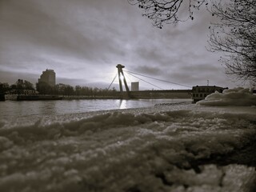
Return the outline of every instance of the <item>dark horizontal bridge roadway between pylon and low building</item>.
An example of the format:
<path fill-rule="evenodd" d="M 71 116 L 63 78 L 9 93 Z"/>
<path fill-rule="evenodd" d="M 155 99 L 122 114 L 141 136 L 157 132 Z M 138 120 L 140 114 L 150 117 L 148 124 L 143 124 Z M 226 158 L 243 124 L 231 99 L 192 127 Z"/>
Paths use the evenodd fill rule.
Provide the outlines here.
<path fill-rule="evenodd" d="M 138 90 L 123 92 L 124 98 L 191 98 L 192 90 Z"/>

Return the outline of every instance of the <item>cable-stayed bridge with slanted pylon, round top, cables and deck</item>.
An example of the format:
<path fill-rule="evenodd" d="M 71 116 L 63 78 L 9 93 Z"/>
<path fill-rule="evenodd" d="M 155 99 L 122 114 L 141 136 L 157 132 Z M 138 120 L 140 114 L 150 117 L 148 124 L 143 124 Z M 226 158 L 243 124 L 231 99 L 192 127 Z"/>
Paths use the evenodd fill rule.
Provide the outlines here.
<path fill-rule="evenodd" d="M 122 70 L 123 68 L 125 68 L 125 66 L 118 64 L 116 67 L 118 68 L 118 74 L 114 77 L 110 86 L 113 84 L 115 78 L 117 78 L 117 76 L 118 76 L 119 90 L 120 90 L 121 98 L 191 98 L 192 87 L 190 87 L 190 86 L 186 86 L 187 88 L 190 88 L 190 89 L 186 89 L 186 90 L 162 90 L 162 88 L 160 88 L 159 86 L 155 86 L 153 83 L 147 82 L 146 80 L 135 76 L 135 74 L 137 74 L 137 73 L 134 73 L 131 71 L 126 71 L 127 74 L 130 74 L 131 76 L 134 76 L 135 78 L 138 78 L 139 80 L 141 80 L 143 82 L 147 82 L 150 85 L 155 86 L 158 89 L 160 89 L 160 90 L 130 90 L 129 86 L 127 85 L 127 82 L 126 82 L 124 70 Z M 140 75 L 145 78 L 151 78 L 149 76 L 142 75 L 142 74 L 137 74 L 137 75 Z M 152 78 L 152 79 L 162 81 L 162 82 L 168 82 L 168 83 L 175 84 L 178 86 L 185 86 L 182 84 L 165 81 L 165 80 L 158 79 L 158 78 Z M 108 89 L 110 89 L 110 86 Z"/>

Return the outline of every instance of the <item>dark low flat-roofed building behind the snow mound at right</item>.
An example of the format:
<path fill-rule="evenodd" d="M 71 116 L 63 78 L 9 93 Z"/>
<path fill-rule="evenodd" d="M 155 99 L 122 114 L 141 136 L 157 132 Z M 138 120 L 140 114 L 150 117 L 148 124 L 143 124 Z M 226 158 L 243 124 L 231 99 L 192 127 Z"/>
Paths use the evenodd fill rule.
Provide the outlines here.
<path fill-rule="evenodd" d="M 216 90 L 218 93 L 222 93 L 223 90 L 228 89 L 221 86 L 193 86 L 192 88 L 192 99 L 193 102 L 198 102 L 205 99 L 207 95 L 213 94 Z"/>

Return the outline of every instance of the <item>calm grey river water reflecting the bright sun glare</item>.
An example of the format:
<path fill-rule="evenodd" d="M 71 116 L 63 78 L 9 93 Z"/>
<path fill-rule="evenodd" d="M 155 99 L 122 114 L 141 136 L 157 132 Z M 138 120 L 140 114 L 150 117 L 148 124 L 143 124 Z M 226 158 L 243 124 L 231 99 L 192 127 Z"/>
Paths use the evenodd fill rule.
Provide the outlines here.
<path fill-rule="evenodd" d="M 0 102 L 0 119 L 55 114 L 74 114 L 98 110 L 150 107 L 161 103 L 191 102 L 191 99 L 84 99 L 57 101 Z"/>

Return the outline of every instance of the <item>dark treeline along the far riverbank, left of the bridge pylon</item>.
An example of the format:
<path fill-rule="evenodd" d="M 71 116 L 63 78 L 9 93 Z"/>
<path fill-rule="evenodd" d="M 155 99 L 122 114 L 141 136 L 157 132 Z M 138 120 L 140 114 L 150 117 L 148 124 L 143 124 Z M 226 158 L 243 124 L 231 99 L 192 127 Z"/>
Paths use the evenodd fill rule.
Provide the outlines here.
<path fill-rule="evenodd" d="M 97 87 L 88 86 L 70 86 L 63 83 L 58 83 L 55 86 L 50 86 L 46 82 L 36 83 L 36 87 L 31 82 L 18 79 L 13 85 L 0 82 L 0 93 L 2 94 L 54 94 L 60 96 L 113 96 L 118 97 L 119 92 L 112 88 L 100 89 Z"/>

